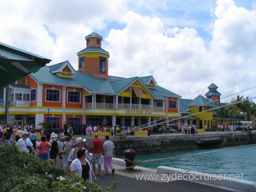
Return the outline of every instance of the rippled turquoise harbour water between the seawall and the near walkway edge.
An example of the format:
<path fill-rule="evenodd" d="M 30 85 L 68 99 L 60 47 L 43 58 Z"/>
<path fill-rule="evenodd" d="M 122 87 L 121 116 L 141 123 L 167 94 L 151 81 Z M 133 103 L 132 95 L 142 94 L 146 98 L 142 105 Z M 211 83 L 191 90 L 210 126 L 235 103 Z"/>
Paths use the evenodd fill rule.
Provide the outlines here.
<path fill-rule="evenodd" d="M 144 161 L 150 159 L 177 157 L 181 155 L 197 154 L 239 146 L 136 154 L 135 160 Z M 117 156 L 117 158 L 124 159 L 124 156 Z M 243 173 L 244 180 L 256 182 L 256 146 L 189 157 L 140 163 L 138 166 L 150 169 L 156 169 L 158 166 L 167 166 L 185 169 L 187 171 L 198 171 L 202 173 L 211 172 L 212 174 L 241 175 L 241 173 Z"/>

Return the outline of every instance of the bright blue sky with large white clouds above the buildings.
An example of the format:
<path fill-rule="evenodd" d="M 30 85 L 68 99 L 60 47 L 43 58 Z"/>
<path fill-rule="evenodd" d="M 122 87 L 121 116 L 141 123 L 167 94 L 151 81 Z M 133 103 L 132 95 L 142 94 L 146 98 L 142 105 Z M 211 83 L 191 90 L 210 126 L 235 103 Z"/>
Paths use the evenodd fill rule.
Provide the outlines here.
<path fill-rule="evenodd" d="M 152 75 L 184 99 L 212 83 L 221 102 L 256 96 L 256 0 L 0 0 L 0 18 L 0 42 L 47 66 L 68 60 L 78 70 L 85 36 L 96 32 L 109 75 Z"/>

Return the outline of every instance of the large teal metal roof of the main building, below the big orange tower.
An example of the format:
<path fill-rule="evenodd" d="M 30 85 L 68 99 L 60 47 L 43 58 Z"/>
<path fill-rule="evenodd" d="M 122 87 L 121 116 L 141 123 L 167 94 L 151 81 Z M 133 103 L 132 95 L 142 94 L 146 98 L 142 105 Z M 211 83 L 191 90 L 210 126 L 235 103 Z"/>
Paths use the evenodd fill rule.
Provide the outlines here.
<path fill-rule="evenodd" d="M 81 71 L 75 71 L 72 75 L 72 78 L 59 77 L 50 71 L 50 69 L 57 69 L 61 67 L 61 64 L 65 65 L 65 62 L 56 64 L 56 66 L 45 66 L 42 67 L 38 72 L 31 73 L 30 76 L 39 83 L 51 83 L 56 85 L 67 85 L 67 86 L 76 86 L 82 87 L 85 90 L 88 90 L 90 93 L 99 93 L 99 94 L 119 94 L 127 86 L 133 83 L 136 80 L 140 80 L 139 77 L 132 78 L 123 78 L 109 76 L 108 79 L 94 77 L 90 74 L 83 73 Z M 141 83 L 143 83 L 141 81 Z M 146 87 L 146 86 L 145 86 Z M 147 88 L 148 89 L 148 88 Z M 152 93 L 152 96 L 155 96 L 156 99 L 164 99 L 162 95 L 168 95 L 173 97 L 180 97 L 179 95 L 164 89 L 160 86 L 155 86 L 155 89 L 148 89 Z"/>

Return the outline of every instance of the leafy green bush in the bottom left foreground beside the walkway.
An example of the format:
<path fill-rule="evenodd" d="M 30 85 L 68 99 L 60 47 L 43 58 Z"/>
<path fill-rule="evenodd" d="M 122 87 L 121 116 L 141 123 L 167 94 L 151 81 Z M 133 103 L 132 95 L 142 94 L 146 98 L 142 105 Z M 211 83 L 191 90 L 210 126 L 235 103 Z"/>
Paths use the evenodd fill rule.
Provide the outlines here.
<path fill-rule="evenodd" d="M 16 146 L 0 148 L 0 186 L 2 192 L 101 192 L 95 183 L 84 181 L 78 175 L 70 179 L 69 173 L 35 155 L 20 152 Z M 111 192 L 114 182 L 106 187 Z"/>

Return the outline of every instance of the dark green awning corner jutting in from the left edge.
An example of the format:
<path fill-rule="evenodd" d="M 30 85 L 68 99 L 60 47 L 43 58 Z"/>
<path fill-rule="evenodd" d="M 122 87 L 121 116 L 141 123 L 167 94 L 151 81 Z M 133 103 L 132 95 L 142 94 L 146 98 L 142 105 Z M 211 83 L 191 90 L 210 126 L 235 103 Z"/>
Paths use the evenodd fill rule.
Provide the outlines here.
<path fill-rule="evenodd" d="M 0 89 L 50 63 L 39 55 L 0 43 Z"/>

